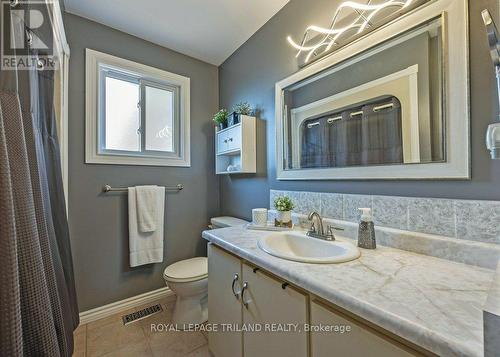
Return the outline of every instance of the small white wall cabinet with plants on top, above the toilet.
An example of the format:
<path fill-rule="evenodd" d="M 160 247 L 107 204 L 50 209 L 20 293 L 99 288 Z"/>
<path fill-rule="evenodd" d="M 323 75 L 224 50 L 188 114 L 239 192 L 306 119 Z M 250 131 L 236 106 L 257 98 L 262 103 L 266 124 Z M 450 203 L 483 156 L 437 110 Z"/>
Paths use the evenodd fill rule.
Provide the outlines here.
<path fill-rule="evenodd" d="M 215 172 L 239 174 L 256 172 L 256 119 L 240 116 L 240 123 L 215 129 Z M 230 170 L 229 170 L 230 169 Z"/>

